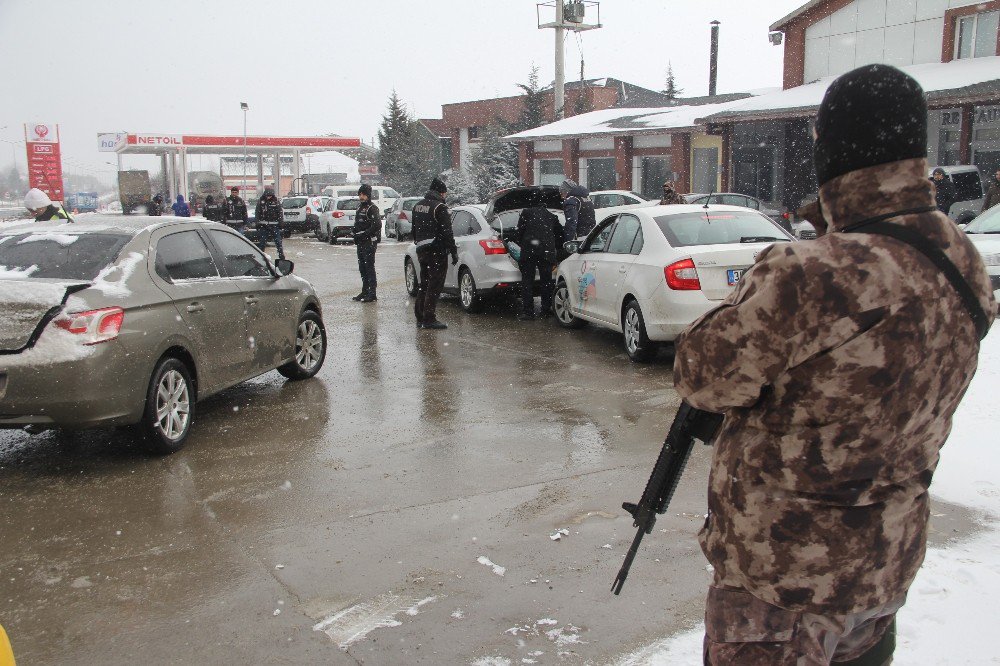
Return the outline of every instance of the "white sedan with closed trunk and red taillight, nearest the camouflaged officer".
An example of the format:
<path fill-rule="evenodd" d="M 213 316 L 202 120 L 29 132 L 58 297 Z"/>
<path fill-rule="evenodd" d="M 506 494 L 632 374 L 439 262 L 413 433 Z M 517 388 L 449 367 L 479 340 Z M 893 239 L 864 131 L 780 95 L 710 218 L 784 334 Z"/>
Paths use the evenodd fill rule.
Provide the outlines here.
<path fill-rule="evenodd" d="M 673 205 L 611 213 L 556 275 L 553 311 L 566 328 L 592 322 L 619 331 L 632 361 L 649 361 L 728 296 L 757 255 L 794 238 L 737 206 Z"/>

